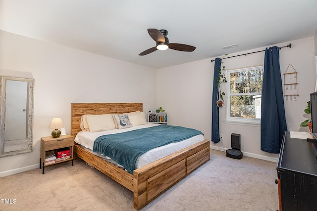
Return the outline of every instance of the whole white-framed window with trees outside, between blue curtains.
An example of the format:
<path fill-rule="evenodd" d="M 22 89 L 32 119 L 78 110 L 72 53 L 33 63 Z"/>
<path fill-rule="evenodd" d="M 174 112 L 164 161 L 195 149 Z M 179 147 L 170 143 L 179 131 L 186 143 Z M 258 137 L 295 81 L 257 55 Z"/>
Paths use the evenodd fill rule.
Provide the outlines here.
<path fill-rule="evenodd" d="M 261 121 L 263 66 L 227 71 L 227 120 Z"/>

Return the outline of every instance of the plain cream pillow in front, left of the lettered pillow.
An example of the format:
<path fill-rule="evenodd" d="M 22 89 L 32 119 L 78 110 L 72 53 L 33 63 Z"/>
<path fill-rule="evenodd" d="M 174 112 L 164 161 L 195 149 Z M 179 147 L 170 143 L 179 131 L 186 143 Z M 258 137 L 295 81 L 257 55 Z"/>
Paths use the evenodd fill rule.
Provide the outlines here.
<path fill-rule="evenodd" d="M 91 132 L 115 129 L 112 114 L 87 115 L 86 120 Z M 84 121 L 85 124 L 85 121 Z"/>

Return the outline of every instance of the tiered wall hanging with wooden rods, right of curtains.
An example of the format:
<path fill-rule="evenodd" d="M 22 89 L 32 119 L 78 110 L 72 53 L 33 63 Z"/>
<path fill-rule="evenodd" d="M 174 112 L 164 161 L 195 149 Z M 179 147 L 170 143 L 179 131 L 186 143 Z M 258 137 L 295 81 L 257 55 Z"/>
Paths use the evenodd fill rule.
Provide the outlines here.
<path fill-rule="evenodd" d="M 296 100 L 297 93 L 297 72 L 292 64 L 289 64 L 284 73 L 284 97 L 286 100 Z"/>

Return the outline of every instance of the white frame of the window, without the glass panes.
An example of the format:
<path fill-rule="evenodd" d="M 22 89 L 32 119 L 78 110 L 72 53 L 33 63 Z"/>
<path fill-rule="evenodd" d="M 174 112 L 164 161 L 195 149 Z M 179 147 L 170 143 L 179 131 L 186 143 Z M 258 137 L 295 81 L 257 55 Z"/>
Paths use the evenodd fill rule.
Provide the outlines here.
<path fill-rule="evenodd" d="M 238 68 L 226 71 L 226 78 L 229 79 L 226 84 L 226 121 L 228 124 L 238 124 L 238 125 L 251 125 L 260 126 L 261 118 L 242 118 L 242 117 L 231 117 L 231 96 L 241 96 L 241 95 L 262 95 L 262 92 L 252 92 L 252 93 L 230 93 L 230 74 L 234 72 L 245 72 L 250 70 L 263 69 L 264 65 L 252 66 L 247 68 Z"/>

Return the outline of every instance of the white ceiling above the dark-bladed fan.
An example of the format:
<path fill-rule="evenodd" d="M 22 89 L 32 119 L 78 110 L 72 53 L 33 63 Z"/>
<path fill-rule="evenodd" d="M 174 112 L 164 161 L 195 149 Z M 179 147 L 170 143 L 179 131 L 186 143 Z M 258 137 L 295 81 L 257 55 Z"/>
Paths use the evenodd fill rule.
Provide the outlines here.
<path fill-rule="evenodd" d="M 139 56 L 148 28 L 196 50 Z M 0 0 L 0 30 L 162 68 L 312 37 L 317 0 Z"/>

